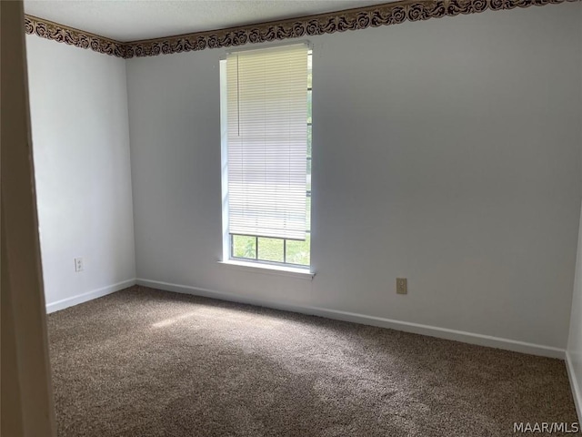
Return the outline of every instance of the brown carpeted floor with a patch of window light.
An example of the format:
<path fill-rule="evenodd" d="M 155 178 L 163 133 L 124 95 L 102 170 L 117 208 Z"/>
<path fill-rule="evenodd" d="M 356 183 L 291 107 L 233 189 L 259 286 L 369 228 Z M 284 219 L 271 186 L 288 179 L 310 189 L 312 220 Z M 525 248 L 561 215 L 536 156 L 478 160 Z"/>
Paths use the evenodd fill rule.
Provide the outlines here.
<path fill-rule="evenodd" d="M 505 436 L 514 422 L 577 422 L 563 361 L 396 330 L 143 287 L 55 312 L 48 328 L 59 437 Z"/>

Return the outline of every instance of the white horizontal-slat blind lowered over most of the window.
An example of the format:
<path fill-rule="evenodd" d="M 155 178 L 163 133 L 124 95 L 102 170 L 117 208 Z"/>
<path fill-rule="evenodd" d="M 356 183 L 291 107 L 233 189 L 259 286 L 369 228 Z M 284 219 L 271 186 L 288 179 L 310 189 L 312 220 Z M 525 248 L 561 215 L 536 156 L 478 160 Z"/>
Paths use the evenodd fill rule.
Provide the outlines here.
<path fill-rule="evenodd" d="M 307 49 L 226 58 L 231 234 L 306 237 Z"/>

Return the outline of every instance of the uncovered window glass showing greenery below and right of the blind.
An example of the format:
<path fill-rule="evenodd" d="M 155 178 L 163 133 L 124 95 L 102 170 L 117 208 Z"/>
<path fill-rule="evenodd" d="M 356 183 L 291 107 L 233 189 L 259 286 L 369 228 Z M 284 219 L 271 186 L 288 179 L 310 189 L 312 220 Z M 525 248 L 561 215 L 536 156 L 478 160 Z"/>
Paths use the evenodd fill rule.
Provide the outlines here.
<path fill-rule="evenodd" d="M 307 179 L 306 179 L 306 239 L 272 239 L 230 234 L 230 256 L 233 259 L 255 260 L 309 266 L 311 264 L 311 86 L 312 55 L 307 57 Z"/>

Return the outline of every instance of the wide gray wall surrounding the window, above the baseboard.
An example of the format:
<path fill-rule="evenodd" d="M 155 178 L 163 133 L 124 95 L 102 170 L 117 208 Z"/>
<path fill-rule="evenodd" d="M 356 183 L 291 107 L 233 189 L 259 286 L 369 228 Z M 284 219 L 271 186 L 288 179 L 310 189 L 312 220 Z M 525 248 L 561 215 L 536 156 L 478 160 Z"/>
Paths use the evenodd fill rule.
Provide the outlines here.
<path fill-rule="evenodd" d="M 128 60 L 137 277 L 565 348 L 581 15 L 548 5 L 310 38 L 313 281 L 216 262 L 225 51 Z"/>

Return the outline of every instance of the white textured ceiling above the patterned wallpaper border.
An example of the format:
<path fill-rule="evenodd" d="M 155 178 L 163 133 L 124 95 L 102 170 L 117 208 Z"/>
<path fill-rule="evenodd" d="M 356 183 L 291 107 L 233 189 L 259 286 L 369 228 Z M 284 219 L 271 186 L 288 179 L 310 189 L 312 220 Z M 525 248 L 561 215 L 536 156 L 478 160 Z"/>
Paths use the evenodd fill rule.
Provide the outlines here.
<path fill-rule="evenodd" d="M 25 13 L 118 41 L 323 14 L 389 0 L 25 0 Z"/>

